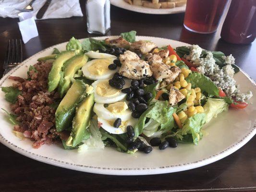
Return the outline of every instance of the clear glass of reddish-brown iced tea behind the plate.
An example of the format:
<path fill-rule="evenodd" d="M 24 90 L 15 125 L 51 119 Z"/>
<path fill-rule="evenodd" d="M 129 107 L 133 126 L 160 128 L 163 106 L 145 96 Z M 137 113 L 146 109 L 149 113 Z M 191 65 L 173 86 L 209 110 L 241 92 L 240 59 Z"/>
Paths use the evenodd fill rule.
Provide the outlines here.
<path fill-rule="evenodd" d="M 213 33 L 228 0 L 187 0 L 184 27 L 196 33 Z"/>

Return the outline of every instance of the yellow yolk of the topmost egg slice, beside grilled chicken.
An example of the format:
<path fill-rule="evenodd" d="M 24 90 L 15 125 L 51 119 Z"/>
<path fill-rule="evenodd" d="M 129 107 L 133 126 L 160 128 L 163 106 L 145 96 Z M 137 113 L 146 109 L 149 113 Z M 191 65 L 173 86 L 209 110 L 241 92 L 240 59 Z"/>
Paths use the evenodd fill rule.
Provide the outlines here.
<path fill-rule="evenodd" d="M 88 67 L 88 71 L 93 75 L 102 75 L 109 71 L 109 65 L 113 59 L 97 59 Z"/>

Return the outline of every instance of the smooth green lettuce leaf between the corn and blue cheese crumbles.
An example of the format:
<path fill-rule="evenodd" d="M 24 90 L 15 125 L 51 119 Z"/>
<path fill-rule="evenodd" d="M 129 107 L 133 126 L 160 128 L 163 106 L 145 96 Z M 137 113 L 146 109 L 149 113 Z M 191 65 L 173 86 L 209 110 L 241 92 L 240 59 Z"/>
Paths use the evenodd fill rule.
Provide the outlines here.
<path fill-rule="evenodd" d="M 208 96 L 219 96 L 219 88 L 209 77 L 200 72 L 192 72 L 187 78 L 187 83 L 191 83 L 192 87 L 199 87 L 202 91 L 207 92 Z"/>

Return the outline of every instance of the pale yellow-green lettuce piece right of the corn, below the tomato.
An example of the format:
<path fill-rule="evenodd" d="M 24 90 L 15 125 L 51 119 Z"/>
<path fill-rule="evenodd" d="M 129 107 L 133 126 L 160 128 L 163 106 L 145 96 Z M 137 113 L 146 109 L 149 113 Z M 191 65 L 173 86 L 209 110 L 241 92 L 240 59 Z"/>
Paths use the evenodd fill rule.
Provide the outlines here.
<path fill-rule="evenodd" d="M 212 118 L 216 118 L 219 113 L 226 110 L 228 110 L 228 104 L 224 99 L 207 98 L 207 102 L 204 105 L 206 122 L 209 122 Z"/>

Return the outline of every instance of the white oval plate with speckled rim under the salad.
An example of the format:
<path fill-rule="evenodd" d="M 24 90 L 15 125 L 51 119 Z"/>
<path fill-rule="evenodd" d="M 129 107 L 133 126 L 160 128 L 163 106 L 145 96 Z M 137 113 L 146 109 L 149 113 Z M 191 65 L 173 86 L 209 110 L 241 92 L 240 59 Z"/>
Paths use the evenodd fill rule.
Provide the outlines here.
<path fill-rule="evenodd" d="M 104 38 L 107 37 L 99 37 L 99 39 Z M 158 47 L 168 44 L 174 48 L 188 45 L 158 37 L 137 36 L 136 39 L 151 40 Z M 51 54 L 53 48 L 64 50 L 66 43 L 46 48 L 24 60 L 19 66 L 3 76 L 0 80 L 0 86 L 12 85 L 13 81 L 7 78 L 9 75 L 26 77 L 28 67 L 37 63 L 37 58 Z M 243 92 L 252 90 L 254 94 L 248 107 L 242 110 L 230 109 L 211 120 L 204 126 L 206 134 L 197 146 L 179 144 L 177 148 L 167 148 L 166 150 L 158 150 L 156 147 L 150 154 L 138 152 L 134 155 L 120 153 L 111 147 L 105 147 L 104 150 L 87 150 L 85 153 L 77 153 L 76 150 L 64 150 L 61 144 L 45 144 L 39 149 L 33 149 L 30 140 L 21 141 L 14 136 L 12 133 L 13 126 L 6 120 L 3 111 L 0 111 L 0 142 L 24 156 L 41 162 L 99 174 L 148 175 L 201 167 L 232 154 L 256 134 L 256 85 L 242 71 L 235 74 L 235 79 L 241 85 Z M 0 106 L 10 111 L 10 104 L 5 101 L 2 91 L 0 91 Z"/>

